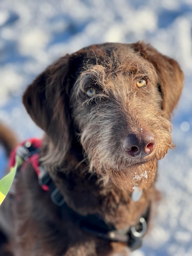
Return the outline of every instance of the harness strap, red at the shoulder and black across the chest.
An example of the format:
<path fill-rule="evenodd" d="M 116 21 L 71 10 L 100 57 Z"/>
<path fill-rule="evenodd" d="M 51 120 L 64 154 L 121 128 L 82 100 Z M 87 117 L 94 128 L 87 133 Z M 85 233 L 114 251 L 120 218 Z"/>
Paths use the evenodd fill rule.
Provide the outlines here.
<path fill-rule="evenodd" d="M 142 245 L 142 239 L 147 231 L 147 222 L 150 216 L 150 206 L 136 226 L 129 229 L 117 230 L 114 225 L 106 222 L 98 214 L 88 214 L 82 216 L 71 209 L 65 202 L 63 195 L 52 181 L 49 173 L 42 164 L 39 164 L 39 153 L 42 145 L 40 139 L 30 139 L 20 144 L 11 154 L 10 166 L 16 166 L 18 171 L 22 170 L 22 165 L 31 162 L 38 175 L 38 182 L 42 189 L 51 193 L 51 200 L 56 204 L 62 213 L 67 211 L 73 222 L 78 222 L 80 228 L 98 238 L 106 239 L 109 242 L 126 243 L 130 250 L 135 250 Z M 20 159 L 19 165 L 16 158 Z"/>

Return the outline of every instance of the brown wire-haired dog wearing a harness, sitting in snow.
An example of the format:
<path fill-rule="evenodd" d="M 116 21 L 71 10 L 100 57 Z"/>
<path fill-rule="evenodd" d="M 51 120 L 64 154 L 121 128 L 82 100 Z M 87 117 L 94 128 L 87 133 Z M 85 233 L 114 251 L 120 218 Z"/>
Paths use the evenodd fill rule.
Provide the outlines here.
<path fill-rule="evenodd" d="M 0 255 L 127 256 L 141 246 L 182 87 L 179 64 L 141 41 L 91 45 L 47 67 L 23 95 L 45 135 L 19 147 Z"/>

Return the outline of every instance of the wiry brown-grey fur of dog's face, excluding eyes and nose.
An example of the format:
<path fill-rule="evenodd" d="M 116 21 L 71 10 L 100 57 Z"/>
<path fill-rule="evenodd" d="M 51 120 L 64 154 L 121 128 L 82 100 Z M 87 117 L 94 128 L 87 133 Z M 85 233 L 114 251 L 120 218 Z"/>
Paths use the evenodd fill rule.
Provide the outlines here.
<path fill-rule="evenodd" d="M 171 148 L 171 124 L 161 110 L 158 76 L 152 64 L 132 51 L 126 62 L 125 55 L 117 58 L 116 52 L 112 54 L 102 65 L 85 65 L 71 97 L 74 121 L 91 170 L 105 174 L 107 180 L 114 178 L 117 186 L 130 191 L 134 185 L 147 189 L 154 180 L 156 162 Z M 114 59 L 118 60 L 115 65 Z M 138 90 L 136 80 L 145 76 L 150 82 L 146 89 Z M 84 99 L 92 84 L 99 93 Z M 141 128 L 154 133 L 156 150 L 138 161 L 122 152 L 121 140 Z"/>

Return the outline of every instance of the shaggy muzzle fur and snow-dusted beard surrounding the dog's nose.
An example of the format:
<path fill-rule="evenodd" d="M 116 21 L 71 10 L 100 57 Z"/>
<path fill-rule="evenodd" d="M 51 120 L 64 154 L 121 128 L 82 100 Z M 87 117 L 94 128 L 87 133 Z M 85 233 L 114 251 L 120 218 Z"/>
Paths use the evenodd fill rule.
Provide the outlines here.
<path fill-rule="evenodd" d="M 150 112 L 149 106 L 146 108 L 146 111 Z M 165 156 L 169 148 L 172 148 L 170 135 L 172 127 L 170 121 L 163 117 L 163 112 L 154 108 L 151 119 L 145 117 L 143 113 L 142 118 L 140 117 L 144 120 L 142 122 L 138 119 L 139 115 L 141 113 L 136 112 L 134 119 L 128 118 L 127 114 L 129 125 L 125 127 L 124 132 L 126 131 L 127 134 L 132 132 L 128 127 L 135 129 L 146 127 L 146 130 L 152 131 L 155 137 L 155 149 L 145 157 L 131 157 L 123 150 L 121 146 L 121 138 L 124 134 L 123 119 L 121 119 L 122 115 L 116 114 L 114 108 L 110 111 L 110 115 L 98 115 L 98 112 L 92 112 L 90 121 L 84 125 L 80 135 L 89 170 L 98 173 L 104 181 L 110 179 L 116 186 L 129 191 L 132 191 L 134 186 L 147 189 L 154 181 L 157 161 Z"/>

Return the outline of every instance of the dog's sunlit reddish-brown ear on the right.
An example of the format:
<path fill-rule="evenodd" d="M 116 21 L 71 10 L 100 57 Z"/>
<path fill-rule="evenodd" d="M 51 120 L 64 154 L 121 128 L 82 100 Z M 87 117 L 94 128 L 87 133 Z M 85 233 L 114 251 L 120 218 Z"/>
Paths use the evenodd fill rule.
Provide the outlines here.
<path fill-rule="evenodd" d="M 134 44 L 134 50 L 154 65 L 159 77 L 157 86 L 163 97 L 162 108 L 170 116 L 183 88 L 184 76 L 179 64 L 140 41 Z"/>

